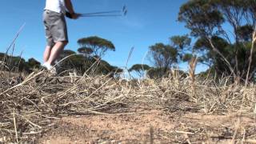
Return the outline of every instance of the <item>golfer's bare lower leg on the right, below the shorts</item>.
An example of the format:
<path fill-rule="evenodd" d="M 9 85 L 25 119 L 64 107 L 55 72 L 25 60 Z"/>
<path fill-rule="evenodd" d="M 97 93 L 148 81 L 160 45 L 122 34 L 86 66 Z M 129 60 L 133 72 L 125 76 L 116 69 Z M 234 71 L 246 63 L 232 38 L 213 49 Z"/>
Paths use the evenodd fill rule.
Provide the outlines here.
<path fill-rule="evenodd" d="M 64 50 L 66 44 L 67 42 L 56 42 L 54 47 L 50 51 L 50 58 L 47 60 L 47 63 L 53 65 L 54 61 L 62 53 L 62 50 Z"/>

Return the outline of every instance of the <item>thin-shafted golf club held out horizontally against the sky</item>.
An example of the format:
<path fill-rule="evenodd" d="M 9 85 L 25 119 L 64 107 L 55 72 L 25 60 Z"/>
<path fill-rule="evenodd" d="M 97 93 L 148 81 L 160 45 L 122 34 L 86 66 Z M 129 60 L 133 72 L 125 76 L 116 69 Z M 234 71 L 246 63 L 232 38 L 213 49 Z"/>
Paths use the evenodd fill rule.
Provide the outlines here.
<path fill-rule="evenodd" d="M 122 10 L 110 10 L 110 11 L 101 11 L 95 13 L 86 13 L 86 14 L 78 14 L 78 17 L 122 17 L 126 16 L 127 9 L 126 6 L 122 7 Z M 69 12 L 66 12 L 67 18 L 72 18 Z"/>

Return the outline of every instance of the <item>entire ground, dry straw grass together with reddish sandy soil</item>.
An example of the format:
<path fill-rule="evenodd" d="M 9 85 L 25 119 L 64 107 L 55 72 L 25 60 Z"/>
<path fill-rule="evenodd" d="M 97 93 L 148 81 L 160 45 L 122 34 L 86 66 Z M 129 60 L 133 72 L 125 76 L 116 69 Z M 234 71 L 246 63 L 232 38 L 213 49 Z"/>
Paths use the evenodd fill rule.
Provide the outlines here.
<path fill-rule="evenodd" d="M 0 143 L 256 143 L 255 85 L 44 71 L 0 82 Z"/>

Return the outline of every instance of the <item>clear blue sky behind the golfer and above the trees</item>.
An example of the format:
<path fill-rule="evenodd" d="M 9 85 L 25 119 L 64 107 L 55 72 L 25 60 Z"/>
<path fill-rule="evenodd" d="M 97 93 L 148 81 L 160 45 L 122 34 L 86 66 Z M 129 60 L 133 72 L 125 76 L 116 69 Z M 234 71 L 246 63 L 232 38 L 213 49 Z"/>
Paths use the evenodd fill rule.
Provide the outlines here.
<path fill-rule="evenodd" d="M 45 0 L 2 0 L 0 8 L 0 51 L 14 38 L 19 27 L 26 26 L 19 36 L 15 54 L 23 51 L 23 58 L 36 58 L 42 62 L 46 45 L 42 25 L 42 11 Z M 116 46 L 115 52 L 108 52 L 103 58 L 114 66 L 125 66 L 132 46 L 134 53 L 128 66 L 150 62 L 143 58 L 148 47 L 156 42 L 168 43 L 173 35 L 188 34 L 183 23 L 177 22 L 179 7 L 187 0 L 75 0 L 74 10 L 89 13 L 102 10 L 120 10 L 123 5 L 128 14 L 123 18 L 81 18 L 67 20 L 70 43 L 66 49 L 76 51 L 78 38 L 97 35 L 106 38 Z M 186 65 L 182 67 L 186 68 Z"/>

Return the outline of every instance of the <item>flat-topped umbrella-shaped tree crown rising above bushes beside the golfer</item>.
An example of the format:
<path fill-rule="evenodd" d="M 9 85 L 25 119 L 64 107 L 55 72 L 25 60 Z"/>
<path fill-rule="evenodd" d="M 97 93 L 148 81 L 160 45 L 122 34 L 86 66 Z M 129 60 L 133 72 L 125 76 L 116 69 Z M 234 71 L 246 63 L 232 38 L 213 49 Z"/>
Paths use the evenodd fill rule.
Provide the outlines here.
<path fill-rule="evenodd" d="M 82 46 L 82 48 L 78 49 L 80 53 L 93 54 L 93 56 L 97 55 L 100 58 L 102 58 L 107 50 L 115 50 L 112 42 L 97 36 L 81 38 L 78 40 L 78 44 Z"/>

